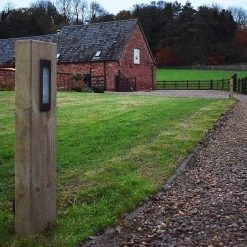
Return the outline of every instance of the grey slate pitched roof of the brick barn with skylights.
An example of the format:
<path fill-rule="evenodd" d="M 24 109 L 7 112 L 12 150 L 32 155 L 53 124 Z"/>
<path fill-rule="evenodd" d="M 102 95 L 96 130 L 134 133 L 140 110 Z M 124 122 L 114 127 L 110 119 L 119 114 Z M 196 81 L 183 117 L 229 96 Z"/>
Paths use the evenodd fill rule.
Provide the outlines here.
<path fill-rule="evenodd" d="M 59 63 L 119 60 L 137 23 L 129 19 L 65 26 L 59 34 L 0 39 L 0 65 L 14 64 L 15 41 L 23 39 L 56 43 Z"/>

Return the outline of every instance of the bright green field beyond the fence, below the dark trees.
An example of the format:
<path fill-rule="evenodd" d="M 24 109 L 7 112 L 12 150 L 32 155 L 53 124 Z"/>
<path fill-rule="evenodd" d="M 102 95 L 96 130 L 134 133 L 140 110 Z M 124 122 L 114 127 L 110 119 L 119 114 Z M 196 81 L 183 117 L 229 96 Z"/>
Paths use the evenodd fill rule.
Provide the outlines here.
<path fill-rule="evenodd" d="M 157 80 L 221 80 L 230 79 L 236 73 L 239 78 L 247 77 L 246 71 L 196 70 L 196 69 L 157 69 Z"/>

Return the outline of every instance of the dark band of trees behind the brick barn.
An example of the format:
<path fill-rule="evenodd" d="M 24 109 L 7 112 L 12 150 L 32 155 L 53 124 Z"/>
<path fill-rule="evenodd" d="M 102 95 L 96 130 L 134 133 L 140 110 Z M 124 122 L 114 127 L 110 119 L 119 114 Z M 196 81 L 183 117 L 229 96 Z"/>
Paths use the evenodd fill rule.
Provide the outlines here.
<path fill-rule="evenodd" d="M 217 5 L 153 1 L 116 15 L 85 0 L 38 0 L 1 11 L 0 38 L 54 33 L 64 25 L 138 18 L 160 66 L 232 64 L 247 59 L 247 12 Z"/>

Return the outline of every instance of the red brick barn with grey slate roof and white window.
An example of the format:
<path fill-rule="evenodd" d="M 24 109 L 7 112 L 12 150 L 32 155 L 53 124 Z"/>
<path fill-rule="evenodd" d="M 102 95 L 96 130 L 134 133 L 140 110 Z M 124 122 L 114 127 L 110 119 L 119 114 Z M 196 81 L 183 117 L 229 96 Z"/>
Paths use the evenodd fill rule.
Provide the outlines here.
<path fill-rule="evenodd" d="M 71 75 L 77 73 L 107 91 L 154 89 L 155 61 L 137 19 L 66 26 L 57 34 L 20 39 L 57 43 L 58 89 L 73 88 L 78 81 Z M 14 68 L 16 40 L 0 40 L 0 67 Z M 7 73 L 1 71 L 0 86 Z"/>

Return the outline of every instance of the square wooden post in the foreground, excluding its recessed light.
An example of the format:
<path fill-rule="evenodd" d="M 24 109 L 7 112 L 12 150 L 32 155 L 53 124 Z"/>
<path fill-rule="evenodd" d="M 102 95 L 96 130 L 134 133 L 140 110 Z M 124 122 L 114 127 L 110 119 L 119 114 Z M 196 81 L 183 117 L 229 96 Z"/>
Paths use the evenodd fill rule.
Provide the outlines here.
<path fill-rule="evenodd" d="M 39 111 L 40 59 L 52 61 L 51 111 Z M 56 219 L 56 45 L 16 43 L 15 229 L 36 234 Z"/>

